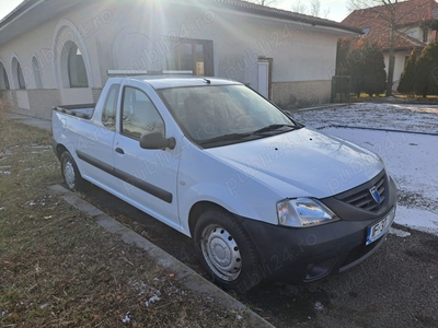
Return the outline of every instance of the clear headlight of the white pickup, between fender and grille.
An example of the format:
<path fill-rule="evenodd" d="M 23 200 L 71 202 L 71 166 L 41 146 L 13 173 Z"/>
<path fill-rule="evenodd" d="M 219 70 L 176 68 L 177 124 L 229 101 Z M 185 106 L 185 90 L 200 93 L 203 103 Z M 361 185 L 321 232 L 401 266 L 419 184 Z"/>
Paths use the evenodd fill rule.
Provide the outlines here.
<path fill-rule="evenodd" d="M 339 220 L 316 199 L 285 199 L 277 203 L 278 223 L 286 226 L 306 227 Z"/>

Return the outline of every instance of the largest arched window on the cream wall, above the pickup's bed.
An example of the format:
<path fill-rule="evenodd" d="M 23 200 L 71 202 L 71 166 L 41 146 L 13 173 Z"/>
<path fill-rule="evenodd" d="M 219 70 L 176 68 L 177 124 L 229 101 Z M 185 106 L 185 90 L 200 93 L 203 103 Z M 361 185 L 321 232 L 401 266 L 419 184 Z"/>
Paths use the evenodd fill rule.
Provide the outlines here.
<path fill-rule="evenodd" d="M 68 40 L 64 46 L 61 52 L 61 66 L 64 66 L 61 71 L 65 75 L 62 78 L 65 86 L 89 87 L 89 80 L 87 78 L 85 62 L 83 61 L 82 52 L 71 40 Z"/>

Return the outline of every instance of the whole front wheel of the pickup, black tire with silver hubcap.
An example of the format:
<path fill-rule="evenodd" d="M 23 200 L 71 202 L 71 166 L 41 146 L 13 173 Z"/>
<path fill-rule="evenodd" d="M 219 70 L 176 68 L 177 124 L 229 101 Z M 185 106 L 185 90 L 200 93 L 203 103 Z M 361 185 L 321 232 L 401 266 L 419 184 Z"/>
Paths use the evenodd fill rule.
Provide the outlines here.
<path fill-rule="evenodd" d="M 204 269 L 217 284 L 244 293 L 262 281 L 255 247 L 232 214 L 217 209 L 204 212 L 194 242 Z"/>

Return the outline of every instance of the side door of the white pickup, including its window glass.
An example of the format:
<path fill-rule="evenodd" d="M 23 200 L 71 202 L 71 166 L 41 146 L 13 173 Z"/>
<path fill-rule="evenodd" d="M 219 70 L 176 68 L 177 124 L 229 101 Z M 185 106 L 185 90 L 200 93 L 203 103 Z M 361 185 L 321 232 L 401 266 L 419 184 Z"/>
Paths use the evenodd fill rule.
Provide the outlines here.
<path fill-rule="evenodd" d="M 145 84 L 141 89 L 130 84 L 123 90 L 119 133 L 114 140 L 118 189 L 136 207 L 180 230 L 176 196 L 180 157 L 174 150 L 146 150 L 139 144 L 143 133 L 161 131 L 165 137 L 168 132 L 145 89 Z"/>

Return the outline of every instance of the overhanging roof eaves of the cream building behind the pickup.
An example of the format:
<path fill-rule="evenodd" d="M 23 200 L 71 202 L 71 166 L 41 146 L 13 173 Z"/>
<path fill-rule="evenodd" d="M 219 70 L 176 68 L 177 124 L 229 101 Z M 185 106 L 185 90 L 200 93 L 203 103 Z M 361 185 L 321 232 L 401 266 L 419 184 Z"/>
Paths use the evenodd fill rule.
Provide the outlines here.
<path fill-rule="evenodd" d="M 280 10 L 276 8 L 263 7 L 247 1 L 241 0 L 172 0 L 175 2 L 181 2 L 183 4 L 191 5 L 205 5 L 212 7 L 217 5 L 219 8 L 227 8 L 237 12 L 246 12 L 252 14 L 257 14 L 262 16 L 281 19 L 285 21 L 298 22 L 303 24 L 309 24 L 312 26 L 321 26 L 337 30 L 341 34 L 361 34 L 361 31 L 346 26 L 344 24 L 313 17 L 304 14 L 299 14 L 290 12 L 287 10 Z M 0 21 L 0 44 L 3 44 L 13 37 L 25 33 L 32 28 L 35 28 L 38 24 L 42 24 L 49 20 L 50 17 L 62 13 L 64 11 L 78 7 L 81 3 L 88 3 L 87 0 L 24 0 L 16 7 L 11 13 Z M 23 19 L 23 16 L 25 17 Z M 32 20 L 28 19 L 32 16 Z"/>

